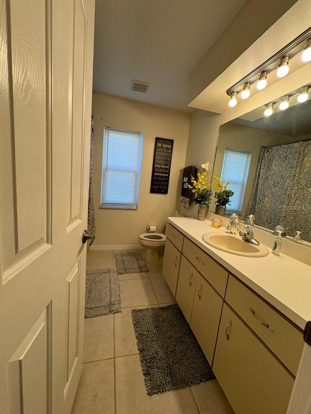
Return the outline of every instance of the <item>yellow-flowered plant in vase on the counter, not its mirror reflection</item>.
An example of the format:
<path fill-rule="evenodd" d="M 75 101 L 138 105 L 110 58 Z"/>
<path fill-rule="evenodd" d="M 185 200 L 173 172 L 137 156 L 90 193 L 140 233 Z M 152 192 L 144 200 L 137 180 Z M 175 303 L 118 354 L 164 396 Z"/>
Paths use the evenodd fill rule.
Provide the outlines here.
<path fill-rule="evenodd" d="M 197 179 L 191 176 L 192 185 L 188 184 L 188 187 L 192 189 L 192 193 L 195 193 L 194 204 L 199 204 L 198 207 L 198 219 L 204 221 L 207 217 L 208 207 L 211 202 L 211 185 L 208 183 L 206 172 L 200 174 L 197 173 Z"/>

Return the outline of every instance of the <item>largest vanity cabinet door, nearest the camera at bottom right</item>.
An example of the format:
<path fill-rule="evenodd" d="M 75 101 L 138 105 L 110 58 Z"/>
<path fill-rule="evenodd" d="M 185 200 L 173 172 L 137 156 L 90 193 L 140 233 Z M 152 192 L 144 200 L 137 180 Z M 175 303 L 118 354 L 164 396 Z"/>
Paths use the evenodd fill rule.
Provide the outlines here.
<path fill-rule="evenodd" d="M 236 414 L 286 413 L 294 379 L 227 304 L 213 371 Z"/>

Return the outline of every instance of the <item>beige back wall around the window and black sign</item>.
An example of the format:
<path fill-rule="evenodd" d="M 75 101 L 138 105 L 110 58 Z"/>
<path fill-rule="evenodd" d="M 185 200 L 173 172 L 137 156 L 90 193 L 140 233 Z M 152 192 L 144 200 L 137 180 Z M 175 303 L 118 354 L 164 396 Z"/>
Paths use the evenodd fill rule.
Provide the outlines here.
<path fill-rule="evenodd" d="M 157 232 L 163 232 L 167 216 L 179 205 L 180 170 L 185 166 L 190 114 L 99 93 L 93 93 L 92 114 L 95 123 L 93 192 L 96 223 L 93 246 L 137 246 L 138 235 L 146 232 L 148 222 L 157 225 Z M 144 133 L 138 210 L 99 208 L 104 126 Z M 174 140 L 168 194 L 150 193 L 156 136 Z"/>

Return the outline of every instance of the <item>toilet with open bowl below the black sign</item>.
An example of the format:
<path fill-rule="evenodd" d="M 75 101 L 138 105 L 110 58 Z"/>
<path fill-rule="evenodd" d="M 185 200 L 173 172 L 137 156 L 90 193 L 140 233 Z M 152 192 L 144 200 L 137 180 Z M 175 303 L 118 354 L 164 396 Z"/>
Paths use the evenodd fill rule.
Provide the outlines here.
<path fill-rule="evenodd" d="M 174 210 L 170 217 L 178 217 L 177 210 Z M 155 224 L 148 224 L 149 233 L 139 234 L 139 244 L 146 249 L 145 262 L 147 265 L 156 265 L 159 263 L 159 249 L 164 248 L 166 235 L 155 233 Z"/>

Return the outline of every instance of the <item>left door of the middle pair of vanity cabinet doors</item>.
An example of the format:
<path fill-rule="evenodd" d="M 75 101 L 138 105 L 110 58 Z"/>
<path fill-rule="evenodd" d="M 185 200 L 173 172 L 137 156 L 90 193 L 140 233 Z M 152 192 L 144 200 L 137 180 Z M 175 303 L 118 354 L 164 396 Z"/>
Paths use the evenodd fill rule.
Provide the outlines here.
<path fill-rule="evenodd" d="M 176 300 L 189 324 L 198 274 L 198 271 L 188 260 L 181 256 Z"/>

